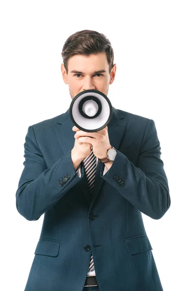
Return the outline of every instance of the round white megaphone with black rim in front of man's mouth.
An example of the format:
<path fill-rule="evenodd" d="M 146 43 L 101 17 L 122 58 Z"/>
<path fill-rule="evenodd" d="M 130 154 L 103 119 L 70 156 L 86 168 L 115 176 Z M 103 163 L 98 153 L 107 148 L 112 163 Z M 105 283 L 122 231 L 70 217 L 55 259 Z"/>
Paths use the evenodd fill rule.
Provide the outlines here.
<path fill-rule="evenodd" d="M 97 132 L 110 123 L 113 107 L 104 93 L 85 90 L 73 98 L 69 114 L 77 128 L 86 132 Z"/>

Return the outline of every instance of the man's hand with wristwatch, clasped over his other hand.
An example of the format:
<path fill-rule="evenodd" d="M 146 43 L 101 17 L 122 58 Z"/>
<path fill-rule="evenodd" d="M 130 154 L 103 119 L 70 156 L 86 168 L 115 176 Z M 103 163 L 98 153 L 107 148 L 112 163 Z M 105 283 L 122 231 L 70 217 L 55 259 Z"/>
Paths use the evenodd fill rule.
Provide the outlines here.
<path fill-rule="evenodd" d="M 78 139 L 79 144 L 88 143 L 93 146 L 94 155 L 98 159 L 105 158 L 107 155 L 107 150 L 112 148 L 109 141 L 108 126 L 97 132 L 85 132 L 78 129 L 76 126 L 74 126 L 72 130 L 76 131 L 74 137 Z"/>

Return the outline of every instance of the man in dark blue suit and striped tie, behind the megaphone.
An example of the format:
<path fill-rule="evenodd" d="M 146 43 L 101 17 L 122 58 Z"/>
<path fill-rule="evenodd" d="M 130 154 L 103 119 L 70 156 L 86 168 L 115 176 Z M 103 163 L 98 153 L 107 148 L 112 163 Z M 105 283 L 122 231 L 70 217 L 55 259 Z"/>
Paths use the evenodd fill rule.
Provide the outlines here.
<path fill-rule="evenodd" d="M 116 65 L 103 34 L 74 33 L 62 56 L 72 99 L 108 94 Z M 16 207 L 31 221 L 44 213 L 25 291 L 162 291 L 141 213 L 160 219 L 170 207 L 154 121 L 113 108 L 88 133 L 67 110 L 30 126 L 24 148 Z"/>

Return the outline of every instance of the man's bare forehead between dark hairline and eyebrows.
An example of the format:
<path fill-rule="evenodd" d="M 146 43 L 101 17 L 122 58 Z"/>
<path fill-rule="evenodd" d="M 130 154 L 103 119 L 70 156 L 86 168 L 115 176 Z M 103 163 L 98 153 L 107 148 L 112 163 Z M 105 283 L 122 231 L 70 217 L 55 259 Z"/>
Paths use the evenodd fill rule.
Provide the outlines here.
<path fill-rule="evenodd" d="M 85 55 L 74 55 L 68 59 L 68 69 L 81 70 L 83 68 L 90 67 L 91 69 L 105 69 L 109 66 L 107 56 L 105 52 L 97 54 Z"/>

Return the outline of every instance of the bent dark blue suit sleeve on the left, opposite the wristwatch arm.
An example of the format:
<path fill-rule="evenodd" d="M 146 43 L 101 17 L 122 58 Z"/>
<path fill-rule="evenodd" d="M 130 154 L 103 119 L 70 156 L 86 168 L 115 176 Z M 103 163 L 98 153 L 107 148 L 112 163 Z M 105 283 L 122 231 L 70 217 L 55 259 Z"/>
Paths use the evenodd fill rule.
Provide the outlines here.
<path fill-rule="evenodd" d="M 16 191 L 16 208 L 27 220 L 37 220 L 80 181 L 67 151 L 50 169 L 37 145 L 33 127 L 24 144 L 24 169 Z M 63 181 L 63 182 L 62 182 Z"/>

